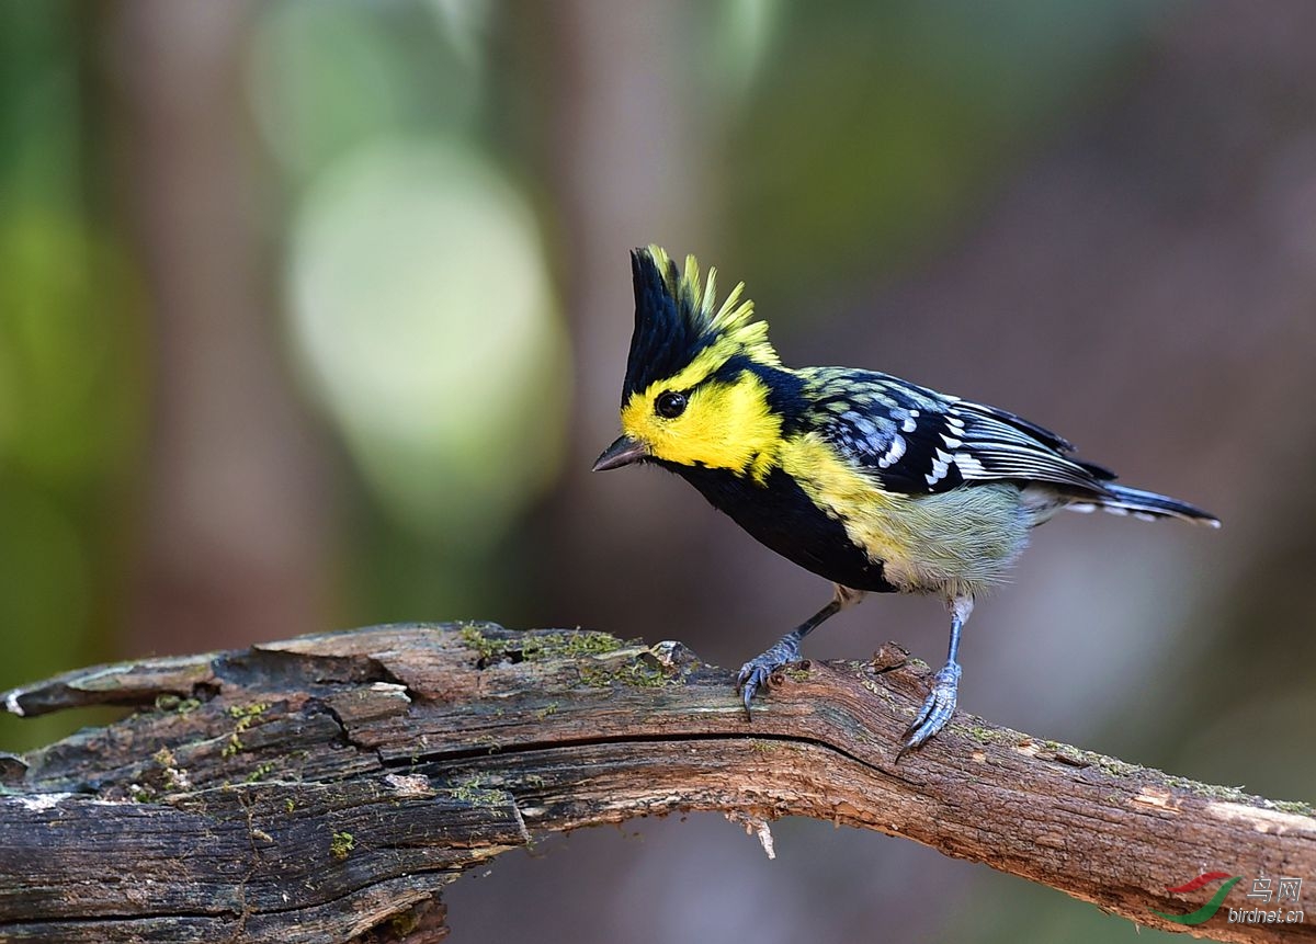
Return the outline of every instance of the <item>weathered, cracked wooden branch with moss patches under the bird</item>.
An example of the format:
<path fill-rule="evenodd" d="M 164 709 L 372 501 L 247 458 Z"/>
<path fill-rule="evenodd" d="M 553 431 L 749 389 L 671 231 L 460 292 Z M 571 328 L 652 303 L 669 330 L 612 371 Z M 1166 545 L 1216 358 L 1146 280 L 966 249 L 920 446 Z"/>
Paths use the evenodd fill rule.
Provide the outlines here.
<path fill-rule="evenodd" d="M 438 940 L 438 891 L 534 834 L 720 810 L 925 843 L 1140 924 L 1316 940 L 1313 922 L 1186 927 L 1202 870 L 1316 884 L 1309 807 L 1205 786 L 957 714 L 896 763 L 928 669 L 788 669 L 746 720 L 679 643 L 383 626 L 72 672 L 0 696 L 138 710 L 0 756 L 0 940 Z M 1277 907 L 1275 903 L 1263 907 Z"/>

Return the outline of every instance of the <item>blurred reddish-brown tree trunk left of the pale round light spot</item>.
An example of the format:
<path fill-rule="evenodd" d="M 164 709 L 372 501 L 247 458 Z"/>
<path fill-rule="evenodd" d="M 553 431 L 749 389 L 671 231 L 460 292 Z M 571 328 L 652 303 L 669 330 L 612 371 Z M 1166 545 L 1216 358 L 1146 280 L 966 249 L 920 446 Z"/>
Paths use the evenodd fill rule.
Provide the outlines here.
<path fill-rule="evenodd" d="M 321 625 L 324 496 L 278 359 L 242 82 L 250 11 L 132 0 L 108 16 L 122 209 L 157 344 L 133 651 Z"/>

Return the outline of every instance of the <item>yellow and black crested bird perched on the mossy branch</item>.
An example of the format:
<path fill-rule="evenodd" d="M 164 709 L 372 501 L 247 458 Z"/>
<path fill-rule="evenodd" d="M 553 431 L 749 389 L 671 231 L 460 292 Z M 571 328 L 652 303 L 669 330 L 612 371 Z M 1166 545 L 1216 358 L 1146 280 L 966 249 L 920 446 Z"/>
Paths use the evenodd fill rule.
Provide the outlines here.
<path fill-rule="evenodd" d="M 937 594 L 950 653 L 904 734 L 901 753 L 950 720 L 959 635 L 974 598 L 999 582 L 1029 531 L 1061 509 L 1136 518 L 1213 515 L 1115 484 L 1061 437 L 995 406 L 850 367 L 790 368 L 742 300 L 721 305 L 657 247 L 630 254 L 636 327 L 621 390 L 622 435 L 595 471 L 654 463 L 788 560 L 830 580 L 832 601 L 745 663 L 746 711 L 800 640 L 866 592 Z"/>

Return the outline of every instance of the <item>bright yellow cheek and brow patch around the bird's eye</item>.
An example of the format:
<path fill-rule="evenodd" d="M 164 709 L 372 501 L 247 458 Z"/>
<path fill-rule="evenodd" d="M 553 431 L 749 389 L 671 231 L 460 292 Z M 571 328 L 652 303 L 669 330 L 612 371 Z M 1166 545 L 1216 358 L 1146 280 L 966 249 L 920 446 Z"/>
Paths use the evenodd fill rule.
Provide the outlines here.
<path fill-rule="evenodd" d="M 621 429 L 647 444 L 655 459 L 763 481 L 776 464 L 782 418 L 769 408 L 767 387 L 753 373 L 741 373 L 733 383 L 705 380 L 724 359 L 705 351 L 675 377 L 632 394 L 621 410 Z M 679 417 L 667 419 L 654 410 L 665 390 L 690 390 L 690 404 Z"/>

